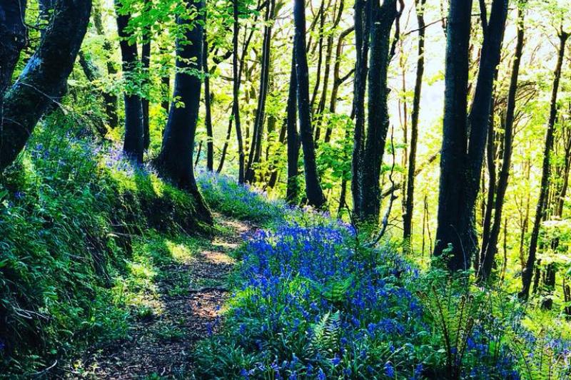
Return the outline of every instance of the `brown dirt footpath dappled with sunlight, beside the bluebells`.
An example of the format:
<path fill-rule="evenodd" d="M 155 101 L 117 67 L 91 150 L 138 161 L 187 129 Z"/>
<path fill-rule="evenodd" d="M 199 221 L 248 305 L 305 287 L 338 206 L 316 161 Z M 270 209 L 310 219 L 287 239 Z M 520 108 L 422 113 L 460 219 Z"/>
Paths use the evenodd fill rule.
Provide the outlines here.
<path fill-rule="evenodd" d="M 192 378 L 193 345 L 218 326 L 230 297 L 231 252 L 253 232 L 249 222 L 216 215 L 218 233 L 187 247 L 186 255 L 158 267 L 155 292 L 142 292 L 151 305 L 133 322 L 128 339 L 87 351 L 68 369 L 67 378 L 164 379 Z M 136 254 L 136 252 L 133 252 Z"/>

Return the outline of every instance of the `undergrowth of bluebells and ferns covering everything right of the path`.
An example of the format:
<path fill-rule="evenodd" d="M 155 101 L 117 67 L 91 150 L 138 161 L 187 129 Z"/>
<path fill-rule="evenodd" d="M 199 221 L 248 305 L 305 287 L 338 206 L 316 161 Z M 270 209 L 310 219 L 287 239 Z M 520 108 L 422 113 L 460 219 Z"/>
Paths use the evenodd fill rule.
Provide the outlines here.
<path fill-rule="evenodd" d="M 220 194 L 215 202 L 228 205 L 215 190 L 210 197 Z M 241 206 L 248 208 L 263 207 Z M 367 247 L 366 240 L 326 214 L 283 208 L 279 223 L 259 230 L 238 250 L 233 297 L 214 322 L 221 326 L 212 326 L 217 333 L 196 349 L 196 376 L 570 376 L 570 340 L 548 327 L 530 330 L 530 311 L 517 297 L 477 286 L 470 273 L 450 276 L 439 260 L 429 271 L 420 270 L 393 245 Z"/>

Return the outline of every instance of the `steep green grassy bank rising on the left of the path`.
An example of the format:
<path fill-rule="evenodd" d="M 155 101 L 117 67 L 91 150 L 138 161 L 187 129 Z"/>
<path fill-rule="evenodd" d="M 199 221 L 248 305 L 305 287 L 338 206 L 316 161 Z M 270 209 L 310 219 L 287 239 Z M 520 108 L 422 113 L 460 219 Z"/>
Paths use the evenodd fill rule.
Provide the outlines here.
<path fill-rule="evenodd" d="M 206 231 L 191 197 L 53 113 L 0 178 L 0 373 L 44 374 L 125 337 L 133 240 Z"/>

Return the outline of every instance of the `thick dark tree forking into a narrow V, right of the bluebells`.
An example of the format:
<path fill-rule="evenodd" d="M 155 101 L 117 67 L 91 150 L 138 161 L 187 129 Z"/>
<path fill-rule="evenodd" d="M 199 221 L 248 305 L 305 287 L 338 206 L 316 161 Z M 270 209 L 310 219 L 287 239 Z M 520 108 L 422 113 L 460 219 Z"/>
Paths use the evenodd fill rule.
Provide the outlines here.
<path fill-rule="evenodd" d="M 468 49 L 471 1 L 452 0 L 448 13 L 443 144 L 440 155 L 438 228 L 434 255 L 450 248 L 450 270 L 468 269 L 476 250 L 474 207 L 480 190 L 480 173 L 492 101 L 507 0 L 494 0 L 484 41 L 475 95 L 468 114 Z"/>

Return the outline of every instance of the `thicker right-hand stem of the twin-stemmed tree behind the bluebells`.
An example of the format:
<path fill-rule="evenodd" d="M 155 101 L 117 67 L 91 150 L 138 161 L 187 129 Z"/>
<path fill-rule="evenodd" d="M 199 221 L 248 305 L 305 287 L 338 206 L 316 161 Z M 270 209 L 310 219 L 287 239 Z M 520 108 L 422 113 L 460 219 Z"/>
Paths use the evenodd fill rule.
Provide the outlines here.
<path fill-rule="evenodd" d="M 368 128 L 363 164 L 360 165 L 360 219 L 378 222 L 380 211 L 380 168 L 389 127 L 387 74 L 390 29 L 397 15 L 396 0 L 369 4 L 370 68 L 368 75 Z"/>

